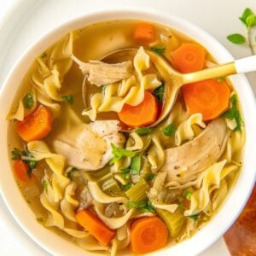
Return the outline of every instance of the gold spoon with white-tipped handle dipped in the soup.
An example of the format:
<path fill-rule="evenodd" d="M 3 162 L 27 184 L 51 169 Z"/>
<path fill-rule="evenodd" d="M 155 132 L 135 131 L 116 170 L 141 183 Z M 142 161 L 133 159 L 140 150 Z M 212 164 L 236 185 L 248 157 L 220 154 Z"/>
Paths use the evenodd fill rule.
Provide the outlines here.
<path fill-rule="evenodd" d="M 176 101 L 177 93 L 184 84 L 190 84 L 199 82 L 206 79 L 217 79 L 219 77 L 229 76 L 236 73 L 247 73 L 256 70 L 256 55 L 225 63 L 222 65 L 216 65 L 215 67 L 206 68 L 194 73 L 179 73 L 173 69 L 166 60 L 160 55 L 157 55 L 151 50 L 144 49 L 150 57 L 151 63 L 154 64 L 157 73 L 165 80 L 165 96 L 163 102 L 163 108 L 160 113 L 160 117 L 149 125 L 153 127 L 158 125 L 166 115 L 172 110 L 172 106 Z M 102 58 L 102 61 L 108 63 L 117 63 L 121 61 L 133 60 L 137 54 L 137 49 L 119 49 L 106 55 Z"/>

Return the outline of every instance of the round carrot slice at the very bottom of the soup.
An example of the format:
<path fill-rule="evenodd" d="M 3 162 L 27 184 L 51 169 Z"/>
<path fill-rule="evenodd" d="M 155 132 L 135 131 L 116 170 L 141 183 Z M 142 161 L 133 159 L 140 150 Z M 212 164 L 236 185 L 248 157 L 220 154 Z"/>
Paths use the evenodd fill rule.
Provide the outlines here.
<path fill-rule="evenodd" d="M 131 249 L 134 253 L 151 253 L 166 246 L 168 230 L 160 218 L 137 219 L 131 226 Z"/>

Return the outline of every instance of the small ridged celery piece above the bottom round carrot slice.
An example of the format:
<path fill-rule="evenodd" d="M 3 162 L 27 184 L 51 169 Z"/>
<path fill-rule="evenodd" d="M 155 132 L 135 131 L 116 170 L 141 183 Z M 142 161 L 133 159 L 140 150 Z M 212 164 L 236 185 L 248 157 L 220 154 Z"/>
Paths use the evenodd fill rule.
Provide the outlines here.
<path fill-rule="evenodd" d="M 138 202 L 147 199 L 147 192 L 149 190 L 148 183 L 142 178 L 138 183 L 128 189 L 125 194 L 131 201 Z"/>

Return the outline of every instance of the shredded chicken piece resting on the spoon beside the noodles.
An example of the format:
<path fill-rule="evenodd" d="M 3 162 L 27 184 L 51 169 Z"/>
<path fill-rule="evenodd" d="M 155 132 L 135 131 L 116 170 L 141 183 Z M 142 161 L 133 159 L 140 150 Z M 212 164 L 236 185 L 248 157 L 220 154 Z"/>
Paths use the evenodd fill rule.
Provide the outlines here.
<path fill-rule="evenodd" d="M 90 84 L 102 86 L 103 84 L 113 84 L 122 79 L 131 77 L 132 63 L 124 61 L 115 64 L 108 64 L 102 61 L 82 62 L 73 56 L 73 61 L 79 64 L 84 75 L 88 75 Z"/>

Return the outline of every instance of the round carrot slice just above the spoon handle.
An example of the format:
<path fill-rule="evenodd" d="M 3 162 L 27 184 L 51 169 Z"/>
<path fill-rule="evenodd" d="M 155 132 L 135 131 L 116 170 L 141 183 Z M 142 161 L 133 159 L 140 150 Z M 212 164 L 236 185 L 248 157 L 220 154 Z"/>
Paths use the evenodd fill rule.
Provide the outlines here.
<path fill-rule="evenodd" d="M 199 44 L 186 43 L 172 52 L 174 66 L 182 73 L 201 70 L 205 66 L 206 50 Z"/>

